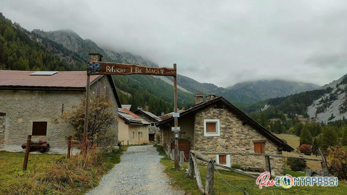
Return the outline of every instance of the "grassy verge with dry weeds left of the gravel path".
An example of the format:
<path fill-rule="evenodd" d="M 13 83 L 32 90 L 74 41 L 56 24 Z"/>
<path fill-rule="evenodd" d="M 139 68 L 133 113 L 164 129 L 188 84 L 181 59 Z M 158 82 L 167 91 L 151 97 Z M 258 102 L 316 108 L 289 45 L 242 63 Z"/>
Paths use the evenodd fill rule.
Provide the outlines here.
<path fill-rule="evenodd" d="M 24 153 L 0 151 L 0 194 L 84 194 L 98 186 L 101 177 L 120 162 L 120 155 L 122 151 L 126 151 L 127 147 L 110 153 L 102 153 L 102 163 L 100 163 L 102 166 L 88 167 L 81 172 L 75 172 L 68 166 L 59 167 L 65 166 L 68 160 L 65 155 L 53 154 L 30 154 L 27 170 L 23 171 Z M 40 181 L 50 174 L 48 171 L 60 173 L 59 176 L 54 175 L 60 182 Z M 66 175 L 71 172 L 81 180 L 76 179 L 73 185 L 68 185 L 64 179 L 69 178 Z M 85 180 L 90 182 L 80 183 Z"/>

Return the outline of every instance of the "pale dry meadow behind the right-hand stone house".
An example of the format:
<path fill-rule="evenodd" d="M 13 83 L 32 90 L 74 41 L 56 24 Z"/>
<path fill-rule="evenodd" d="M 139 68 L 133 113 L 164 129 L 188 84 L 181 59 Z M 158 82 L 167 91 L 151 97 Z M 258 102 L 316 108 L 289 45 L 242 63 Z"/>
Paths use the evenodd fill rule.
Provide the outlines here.
<path fill-rule="evenodd" d="M 288 136 L 288 135 L 282 135 L 282 134 L 275 134 L 278 138 L 283 139 L 287 141 L 287 144 L 293 147 L 295 150 L 297 147 L 299 147 L 300 144 L 300 137 L 298 136 Z M 303 156 L 306 158 L 313 158 L 313 159 L 322 159 L 320 156 L 315 155 L 305 155 L 303 153 L 298 153 L 296 151 L 293 152 L 282 152 L 283 155 L 288 156 Z M 308 167 L 314 170 L 322 170 L 321 162 L 320 161 L 312 161 L 312 160 L 306 160 L 306 164 Z"/>

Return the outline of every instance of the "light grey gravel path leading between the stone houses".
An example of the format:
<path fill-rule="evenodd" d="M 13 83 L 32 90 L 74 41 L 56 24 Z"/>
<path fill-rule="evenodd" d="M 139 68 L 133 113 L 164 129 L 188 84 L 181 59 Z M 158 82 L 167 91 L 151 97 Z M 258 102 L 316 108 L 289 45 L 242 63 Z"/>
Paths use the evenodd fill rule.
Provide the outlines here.
<path fill-rule="evenodd" d="M 183 195 L 183 190 L 170 186 L 159 162 L 162 156 L 153 145 L 131 146 L 100 181 L 100 185 L 87 195 L 136 194 Z"/>

